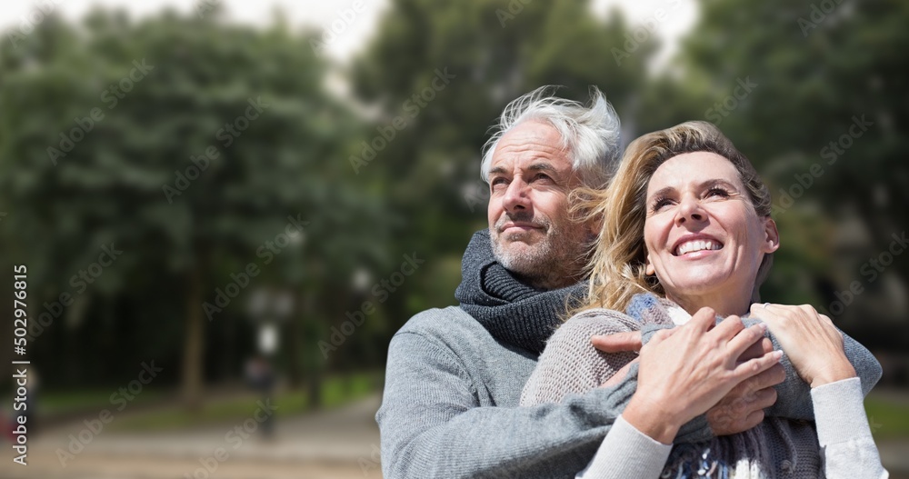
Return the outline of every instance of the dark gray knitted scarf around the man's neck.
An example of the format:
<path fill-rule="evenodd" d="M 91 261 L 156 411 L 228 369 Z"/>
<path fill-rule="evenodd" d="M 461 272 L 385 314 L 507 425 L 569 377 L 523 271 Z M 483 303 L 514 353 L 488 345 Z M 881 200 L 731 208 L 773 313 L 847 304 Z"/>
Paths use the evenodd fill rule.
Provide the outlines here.
<path fill-rule="evenodd" d="M 541 291 L 521 283 L 499 264 L 489 230 L 474 233 L 461 263 L 461 284 L 454 297 L 495 339 L 536 354 L 562 324 L 566 305 L 584 297 L 585 284 Z"/>

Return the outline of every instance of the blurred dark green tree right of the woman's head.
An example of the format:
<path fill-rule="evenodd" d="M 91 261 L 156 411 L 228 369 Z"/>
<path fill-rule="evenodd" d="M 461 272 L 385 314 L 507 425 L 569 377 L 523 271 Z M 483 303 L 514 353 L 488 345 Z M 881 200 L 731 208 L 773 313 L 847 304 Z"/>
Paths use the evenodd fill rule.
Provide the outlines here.
<path fill-rule="evenodd" d="M 855 334 L 901 332 L 869 337 L 873 346 L 904 344 L 909 262 L 879 260 L 907 226 L 909 5 L 735 0 L 701 10 L 681 80 L 667 75 L 645 102 L 651 129 L 714 122 L 764 173 L 783 233 L 765 295 L 815 304 Z M 864 293 L 841 300 L 854 282 Z"/>

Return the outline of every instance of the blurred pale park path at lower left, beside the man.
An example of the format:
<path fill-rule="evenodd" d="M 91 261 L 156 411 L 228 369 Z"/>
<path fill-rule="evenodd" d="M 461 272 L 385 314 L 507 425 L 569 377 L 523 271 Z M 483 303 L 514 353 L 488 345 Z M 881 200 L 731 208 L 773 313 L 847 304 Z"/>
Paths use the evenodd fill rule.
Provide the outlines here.
<path fill-rule="evenodd" d="M 381 478 L 378 394 L 329 411 L 297 417 L 276 415 L 271 439 L 255 431 L 242 439 L 236 424 L 167 433 L 97 434 L 85 450 L 66 462 L 66 450 L 85 424 L 57 427 L 29 438 L 28 465 L 6 459 L 0 477 L 9 479 L 158 479 L 158 478 Z M 280 414 L 280 411 L 278 412 Z M 228 435 L 230 434 L 230 435 Z M 227 437 L 231 439 L 228 440 Z M 241 442 L 242 441 L 242 442 Z M 218 459 L 217 448 L 224 448 Z M 8 455 L 8 454 L 6 454 Z"/>

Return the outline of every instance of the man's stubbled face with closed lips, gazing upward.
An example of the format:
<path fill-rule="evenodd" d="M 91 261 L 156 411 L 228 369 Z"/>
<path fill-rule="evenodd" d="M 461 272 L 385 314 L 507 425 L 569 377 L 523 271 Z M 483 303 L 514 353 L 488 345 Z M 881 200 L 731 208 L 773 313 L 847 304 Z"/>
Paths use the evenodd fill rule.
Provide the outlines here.
<path fill-rule="evenodd" d="M 490 166 L 489 235 L 499 263 L 535 287 L 575 284 L 589 228 L 568 218 L 568 194 L 581 185 L 558 131 L 526 121 L 502 136 Z"/>

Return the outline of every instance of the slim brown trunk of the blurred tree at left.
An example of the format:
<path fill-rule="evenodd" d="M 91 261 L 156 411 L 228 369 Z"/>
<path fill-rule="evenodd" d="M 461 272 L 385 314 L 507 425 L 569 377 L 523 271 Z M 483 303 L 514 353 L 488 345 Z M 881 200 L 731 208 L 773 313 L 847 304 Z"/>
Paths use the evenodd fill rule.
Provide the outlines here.
<path fill-rule="evenodd" d="M 186 329 L 183 346 L 183 401 L 196 409 L 202 402 L 202 372 L 205 322 L 202 318 L 202 281 L 198 265 L 187 276 Z"/>

